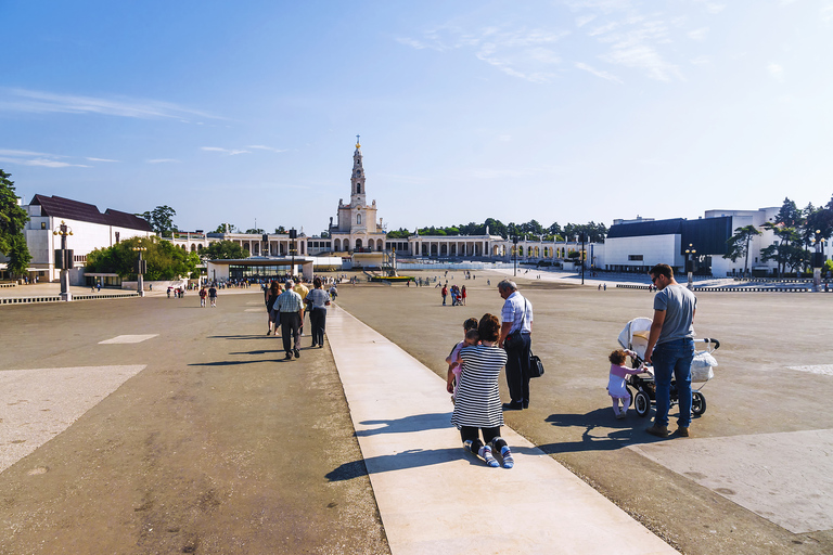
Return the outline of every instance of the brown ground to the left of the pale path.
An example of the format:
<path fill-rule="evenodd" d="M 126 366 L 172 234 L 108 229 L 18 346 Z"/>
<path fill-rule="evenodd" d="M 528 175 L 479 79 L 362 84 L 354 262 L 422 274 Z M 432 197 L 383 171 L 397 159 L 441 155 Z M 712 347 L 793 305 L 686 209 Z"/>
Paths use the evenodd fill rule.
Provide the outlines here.
<path fill-rule="evenodd" d="M 259 294 L 0 318 L 0 372 L 146 365 L 0 474 L 0 553 L 389 553 L 329 348 L 283 362 Z"/>

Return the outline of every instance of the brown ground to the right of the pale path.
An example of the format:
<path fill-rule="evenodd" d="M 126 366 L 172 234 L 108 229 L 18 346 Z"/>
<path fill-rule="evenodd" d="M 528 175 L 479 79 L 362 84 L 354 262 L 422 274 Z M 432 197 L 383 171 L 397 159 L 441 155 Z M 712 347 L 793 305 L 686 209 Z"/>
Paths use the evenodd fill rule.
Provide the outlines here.
<path fill-rule="evenodd" d="M 465 307 L 441 305 L 440 289 L 361 283 L 339 287 L 339 305 L 440 376 L 462 338 L 462 323 L 500 314 L 502 275 L 414 272 L 465 285 Z M 489 283 L 490 282 L 490 283 Z M 505 413 L 507 424 L 687 554 L 832 553 L 831 530 L 792 533 L 772 521 L 642 456 L 630 446 L 657 440 L 650 421 L 631 411 L 616 421 L 606 395 L 607 354 L 625 324 L 652 315 L 646 291 L 600 292 L 517 278 L 534 305 L 533 350 L 547 367 L 531 385 L 530 409 Z M 833 333 L 828 296 L 699 294 L 695 328 L 721 341 L 720 366 L 703 389 L 707 412 L 692 423 L 696 438 L 741 437 L 833 428 L 831 377 L 786 370 L 829 364 Z M 501 396 L 509 400 L 505 380 Z M 671 429 L 676 425 L 671 410 Z M 685 441 L 675 439 L 670 441 Z M 828 463 L 829 464 L 829 463 Z M 833 470 L 833 467 L 830 468 Z M 778 472 L 777 469 L 774 472 Z M 553 492 L 558 495 L 558 492 Z"/>

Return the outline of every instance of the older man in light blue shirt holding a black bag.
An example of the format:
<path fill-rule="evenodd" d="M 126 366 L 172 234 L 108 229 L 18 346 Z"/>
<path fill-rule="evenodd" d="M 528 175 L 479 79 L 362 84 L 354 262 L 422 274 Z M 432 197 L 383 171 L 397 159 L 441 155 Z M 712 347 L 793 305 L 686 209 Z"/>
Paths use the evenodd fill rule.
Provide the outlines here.
<path fill-rule="evenodd" d="M 503 403 L 504 411 L 529 408 L 529 349 L 533 333 L 533 304 L 517 292 L 510 280 L 498 284 L 498 293 L 504 300 L 500 318 L 498 346 L 507 351 L 507 384 L 512 400 Z"/>

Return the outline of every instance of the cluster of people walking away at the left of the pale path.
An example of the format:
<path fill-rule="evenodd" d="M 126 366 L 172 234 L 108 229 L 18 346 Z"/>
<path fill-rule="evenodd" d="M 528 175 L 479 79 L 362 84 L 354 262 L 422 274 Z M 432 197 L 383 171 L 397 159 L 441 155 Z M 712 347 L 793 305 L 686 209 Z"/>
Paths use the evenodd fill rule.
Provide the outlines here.
<path fill-rule="evenodd" d="M 285 360 L 300 358 L 300 337 L 304 326 L 304 314 L 309 313 L 309 324 L 312 328 L 312 347 L 323 348 L 324 331 L 326 327 L 326 308 L 337 296 L 335 283 L 330 291 L 324 291 L 323 280 L 316 276 L 312 280 L 312 291 L 298 280 L 286 280 L 283 291 L 278 282 L 272 282 L 264 293 L 269 328 L 266 335 L 278 335 L 281 326 L 281 339 Z"/>

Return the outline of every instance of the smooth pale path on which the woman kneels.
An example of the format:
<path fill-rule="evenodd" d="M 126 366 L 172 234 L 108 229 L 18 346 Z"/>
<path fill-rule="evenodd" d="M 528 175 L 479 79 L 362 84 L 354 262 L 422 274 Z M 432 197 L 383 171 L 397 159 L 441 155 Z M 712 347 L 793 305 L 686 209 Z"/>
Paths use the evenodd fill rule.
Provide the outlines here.
<path fill-rule="evenodd" d="M 509 427 L 514 468 L 466 454 L 445 380 L 343 309 L 326 335 L 394 555 L 677 553 Z"/>

